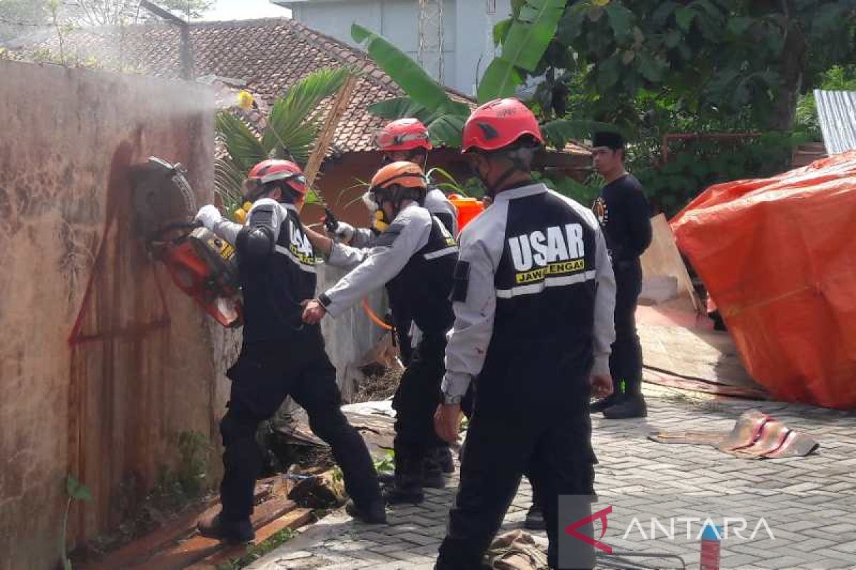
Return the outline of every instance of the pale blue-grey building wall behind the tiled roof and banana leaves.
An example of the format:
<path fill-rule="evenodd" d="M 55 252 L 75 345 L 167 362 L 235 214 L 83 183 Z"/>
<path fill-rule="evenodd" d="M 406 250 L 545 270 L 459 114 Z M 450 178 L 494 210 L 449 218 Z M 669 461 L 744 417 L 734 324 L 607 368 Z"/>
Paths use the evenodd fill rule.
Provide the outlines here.
<path fill-rule="evenodd" d="M 419 49 L 417 0 L 335 0 L 285 3 L 294 20 L 354 45 L 351 24 L 381 33 L 416 59 Z M 493 26 L 511 15 L 510 0 L 445 0 L 443 3 L 443 83 L 475 94 L 477 78 L 494 55 Z M 480 64 L 479 64 L 479 59 Z M 429 73 L 436 70 L 427 69 Z"/>

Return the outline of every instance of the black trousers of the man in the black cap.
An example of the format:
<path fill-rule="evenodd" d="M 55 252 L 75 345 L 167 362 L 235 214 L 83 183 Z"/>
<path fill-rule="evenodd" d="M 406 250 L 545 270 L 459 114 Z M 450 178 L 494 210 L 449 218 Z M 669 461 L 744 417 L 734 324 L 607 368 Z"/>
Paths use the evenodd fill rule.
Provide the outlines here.
<path fill-rule="evenodd" d="M 609 373 L 615 393 L 621 380 L 627 393 L 636 394 L 642 385 L 642 345 L 636 332 L 636 307 L 642 291 L 642 267 L 639 260 L 615 264 L 615 343 L 609 355 Z"/>

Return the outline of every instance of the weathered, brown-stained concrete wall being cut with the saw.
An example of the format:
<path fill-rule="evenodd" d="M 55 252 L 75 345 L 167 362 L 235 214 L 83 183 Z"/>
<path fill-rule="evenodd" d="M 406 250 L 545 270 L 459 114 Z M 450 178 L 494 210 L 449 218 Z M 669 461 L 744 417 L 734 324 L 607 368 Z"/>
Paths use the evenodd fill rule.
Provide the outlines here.
<path fill-rule="evenodd" d="M 187 165 L 211 201 L 203 88 L 0 61 L 0 569 L 57 560 L 66 473 L 95 500 L 71 537 L 115 526 L 175 459 L 218 443 L 224 344 L 134 235 L 128 165 Z M 75 321 L 80 326 L 74 327 Z"/>

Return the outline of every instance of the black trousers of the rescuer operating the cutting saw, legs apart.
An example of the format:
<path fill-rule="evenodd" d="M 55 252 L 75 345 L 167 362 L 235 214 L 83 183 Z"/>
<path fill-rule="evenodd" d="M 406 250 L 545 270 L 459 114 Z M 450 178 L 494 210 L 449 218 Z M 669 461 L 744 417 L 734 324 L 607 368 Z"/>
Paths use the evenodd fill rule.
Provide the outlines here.
<path fill-rule="evenodd" d="M 377 473 L 366 443 L 342 414 L 336 368 L 324 351 L 320 332 L 288 343 L 244 344 L 227 373 L 232 380 L 223 436 L 223 516 L 245 520 L 253 513 L 253 487 L 262 467 L 256 442 L 259 423 L 291 396 L 309 415 L 312 432 L 330 444 L 342 468 L 345 490 L 358 505 L 380 500 Z"/>

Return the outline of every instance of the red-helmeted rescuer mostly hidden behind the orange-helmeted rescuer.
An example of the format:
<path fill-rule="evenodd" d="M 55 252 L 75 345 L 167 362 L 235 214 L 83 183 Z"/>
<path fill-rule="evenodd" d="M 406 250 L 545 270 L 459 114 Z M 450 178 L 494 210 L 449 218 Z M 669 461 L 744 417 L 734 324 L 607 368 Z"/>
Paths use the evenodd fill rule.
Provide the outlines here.
<path fill-rule="evenodd" d="M 418 164 L 423 172 L 427 172 L 428 153 L 433 149 L 431 136 L 428 129 L 419 119 L 406 118 L 396 119 L 388 123 L 375 134 L 374 143 L 377 149 L 383 151 L 383 162 L 407 161 Z M 366 200 L 366 207 L 375 216 L 377 206 L 372 200 Z M 449 202 L 449 198 L 437 186 L 428 181 L 428 191 L 425 194 L 425 209 L 437 216 L 443 222 L 443 226 L 455 237 L 458 235 L 458 209 L 455 204 Z M 383 226 L 383 222 L 380 224 Z M 377 226 L 372 228 L 355 229 L 354 226 L 345 222 L 339 222 L 334 230 L 334 235 L 340 241 L 354 247 L 369 247 L 380 230 Z M 412 315 L 393 311 L 392 320 L 395 325 L 395 340 L 398 343 L 401 361 L 407 366 L 413 353 L 413 336 L 419 336 L 419 332 L 411 330 Z M 418 342 L 418 338 L 417 338 Z M 441 444 L 437 450 L 429 454 L 425 463 L 425 480 L 432 483 L 431 486 L 443 486 L 442 473 L 453 473 L 455 464 L 449 446 Z M 381 476 L 383 478 L 383 475 Z M 437 478 L 440 479 L 437 479 Z M 436 484 L 436 485 L 435 485 Z"/>

